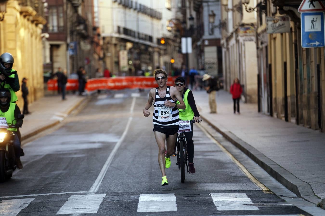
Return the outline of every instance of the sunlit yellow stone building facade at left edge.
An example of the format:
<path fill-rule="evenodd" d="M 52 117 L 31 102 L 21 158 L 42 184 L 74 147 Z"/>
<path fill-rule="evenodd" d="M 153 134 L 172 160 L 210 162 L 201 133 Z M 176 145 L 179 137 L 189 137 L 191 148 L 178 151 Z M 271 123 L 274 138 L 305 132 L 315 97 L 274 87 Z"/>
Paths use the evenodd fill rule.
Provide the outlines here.
<path fill-rule="evenodd" d="M 28 78 L 29 102 L 44 95 L 42 29 L 46 23 L 43 2 L 11 0 L 6 4 L 4 20 L 0 21 L 0 52 L 14 57 L 13 68 L 18 71 L 19 81 Z M 23 107 L 20 91 L 17 104 Z"/>

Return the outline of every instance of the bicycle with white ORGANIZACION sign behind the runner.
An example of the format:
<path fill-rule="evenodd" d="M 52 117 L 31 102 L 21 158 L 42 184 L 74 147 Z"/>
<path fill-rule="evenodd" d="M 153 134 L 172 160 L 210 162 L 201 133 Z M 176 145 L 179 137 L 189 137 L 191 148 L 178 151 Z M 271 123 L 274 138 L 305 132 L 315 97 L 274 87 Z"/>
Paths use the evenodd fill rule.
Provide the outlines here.
<path fill-rule="evenodd" d="M 201 122 L 202 119 L 200 119 L 199 122 Z M 195 120 L 190 120 L 190 121 L 183 121 L 185 124 L 184 125 L 189 125 L 189 129 L 191 128 L 190 124 L 188 123 L 195 123 Z M 180 126 L 183 125 L 180 123 Z M 183 126 L 184 126 L 183 125 Z M 183 127 L 184 129 L 184 127 Z M 179 170 L 181 171 L 181 182 L 185 182 L 185 165 L 187 167 L 187 172 L 188 171 L 188 154 L 187 154 L 187 143 L 186 143 L 186 138 L 185 138 L 185 133 L 186 130 L 189 129 L 184 129 L 183 132 L 177 132 L 177 138 L 176 138 L 176 156 L 177 156 L 177 163 Z"/>

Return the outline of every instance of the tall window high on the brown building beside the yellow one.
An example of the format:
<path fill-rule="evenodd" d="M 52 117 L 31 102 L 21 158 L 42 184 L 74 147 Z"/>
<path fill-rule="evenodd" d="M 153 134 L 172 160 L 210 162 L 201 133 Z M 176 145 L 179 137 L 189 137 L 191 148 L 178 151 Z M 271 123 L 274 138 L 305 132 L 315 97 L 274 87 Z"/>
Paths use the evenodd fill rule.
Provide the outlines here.
<path fill-rule="evenodd" d="M 48 32 L 60 32 L 64 30 L 63 7 L 50 7 L 48 10 Z"/>

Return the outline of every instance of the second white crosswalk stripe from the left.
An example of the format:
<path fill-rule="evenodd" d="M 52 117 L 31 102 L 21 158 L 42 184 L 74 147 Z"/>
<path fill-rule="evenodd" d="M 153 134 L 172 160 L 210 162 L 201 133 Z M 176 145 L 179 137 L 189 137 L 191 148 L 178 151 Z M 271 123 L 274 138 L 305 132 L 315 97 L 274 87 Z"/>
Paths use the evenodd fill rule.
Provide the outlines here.
<path fill-rule="evenodd" d="M 106 194 L 72 195 L 57 214 L 97 213 Z"/>

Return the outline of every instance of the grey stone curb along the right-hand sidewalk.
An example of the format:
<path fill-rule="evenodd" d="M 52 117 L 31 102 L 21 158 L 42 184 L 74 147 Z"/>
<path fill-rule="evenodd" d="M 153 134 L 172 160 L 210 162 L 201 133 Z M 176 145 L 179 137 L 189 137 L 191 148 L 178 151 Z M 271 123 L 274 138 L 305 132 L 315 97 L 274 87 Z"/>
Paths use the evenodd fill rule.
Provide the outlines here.
<path fill-rule="evenodd" d="M 207 122 L 214 130 L 219 132 L 229 142 L 239 148 L 243 153 L 245 153 L 260 167 L 262 167 L 270 176 L 275 178 L 278 182 L 291 190 L 293 193 L 297 194 L 299 198 L 306 199 L 314 204 L 317 204 L 321 201 L 321 199 L 315 195 L 313 189 L 308 183 L 292 175 L 289 171 L 266 157 L 253 146 L 238 138 L 231 131 L 223 131 L 204 116 L 201 115 L 200 117 L 204 119 L 204 121 Z"/>

